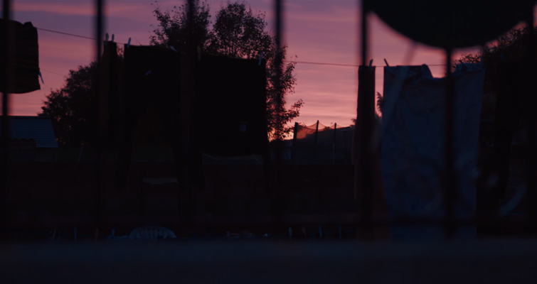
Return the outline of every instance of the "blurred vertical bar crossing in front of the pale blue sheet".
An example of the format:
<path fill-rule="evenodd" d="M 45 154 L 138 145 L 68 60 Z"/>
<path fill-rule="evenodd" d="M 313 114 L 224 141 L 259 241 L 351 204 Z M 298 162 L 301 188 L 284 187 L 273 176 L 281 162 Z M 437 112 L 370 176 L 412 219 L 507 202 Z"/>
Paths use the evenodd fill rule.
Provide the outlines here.
<path fill-rule="evenodd" d="M 446 215 L 444 220 L 444 229 L 447 239 L 454 237 L 457 230 L 455 224 L 454 207 L 457 200 L 457 175 L 454 169 L 455 148 L 454 148 L 454 127 L 455 127 L 455 94 L 454 80 L 451 70 L 452 50 L 446 50 L 446 148 L 445 148 L 445 175 L 444 175 L 444 204 Z"/>

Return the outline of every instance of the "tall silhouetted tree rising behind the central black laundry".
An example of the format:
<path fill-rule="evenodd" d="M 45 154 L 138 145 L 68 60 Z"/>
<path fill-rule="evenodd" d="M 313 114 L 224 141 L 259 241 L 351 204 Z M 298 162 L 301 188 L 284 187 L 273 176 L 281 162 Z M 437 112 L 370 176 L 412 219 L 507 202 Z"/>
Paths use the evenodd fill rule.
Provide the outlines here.
<path fill-rule="evenodd" d="M 252 13 L 243 3 L 228 3 L 220 7 L 216 13 L 216 21 L 211 26 L 210 9 L 206 2 L 193 1 L 194 8 L 191 12 L 193 18 L 193 28 L 191 29 L 191 39 L 193 44 L 200 47 L 204 52 L 212 55 L 225 55 L 232 58 L 259 58 L 263 53 L 263 58 L 267 61 L 267 119 L 269 135 L 272 139 L 276 137 L 274 130 L 277 128 L 277 113 L 282 114 L 280 127 L 284 129 L 284 134 L 292 131 L 292 126 L 287 126 L 289 122 L 299 116 L 300 107 L 304 104 L 302 99 L 285 108 L 285 97 L 294 92 L 296 78 L 293 71 L 296 62 L 289 62 L 282 70 L 280 77 L 281 90 L 275 88 L 277 80 L 276 56 L 281 56 L 285 60 L 286 47 L 278 50 L 275 44 L 275 37 L 270 35 L 265 28 L 265 13 Z M 151 35 L 151 44 L 162 46 L 173 46 L 177 50 L 184 50 L 186 39 L 188 38 L 187 15 L 188 4 L 175 6 L 171 11 L 162 11 L 156 6 L 154 15 L 159 21 L 159 26 L 154 29 Z M 276 100 L 282 100 L 281 109 L 277 109 Z"/>

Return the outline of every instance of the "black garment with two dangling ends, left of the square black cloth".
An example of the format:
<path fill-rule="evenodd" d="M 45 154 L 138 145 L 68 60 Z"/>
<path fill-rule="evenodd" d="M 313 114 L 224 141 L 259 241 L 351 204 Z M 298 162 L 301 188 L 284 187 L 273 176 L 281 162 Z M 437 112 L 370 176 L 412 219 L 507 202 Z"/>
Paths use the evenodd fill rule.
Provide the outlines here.
<path fill-rule="evenodd" d="M 152 144 L 144 139 L 142 129 L 163 129 L 162 138 L 174 149 L 176 166 L 179 167 L 183 160 L 179 124 L 179 53 L 157 46 L 131 45 L 125 46 L 124 50 L 122 146 L 116 179 L 119 188 L 127 180 L 132 146 Z M 178 171 L 178 179 L 181 177 Z"/>

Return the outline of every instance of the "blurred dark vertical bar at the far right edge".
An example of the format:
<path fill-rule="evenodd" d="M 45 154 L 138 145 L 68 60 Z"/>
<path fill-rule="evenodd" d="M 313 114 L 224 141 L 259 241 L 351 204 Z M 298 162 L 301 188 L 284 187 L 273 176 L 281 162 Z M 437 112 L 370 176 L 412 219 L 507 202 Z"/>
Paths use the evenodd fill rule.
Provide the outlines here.
<path fill-rule="evenodd" d="M 533 10 L 528 14 L 526 20 L 528 25 L 528 61 L 533 62 L 535 60 L 535 29 L 533 28 Z M 530 96 L 536 96 L 533 93 Z M 534 99 L 530 99 L 530 102 L 536 102 Z M 536 107 L 535 105 L 531 107 Z M 533 117 L 528 117 L 528 162 L 527 162 L 527 176 L 528 176 L 528 229 L 531 233 L 536 231 L 537 226 L 537 181 L 536 181 L 536 117 L 535 114 L 530 114 Z"/>

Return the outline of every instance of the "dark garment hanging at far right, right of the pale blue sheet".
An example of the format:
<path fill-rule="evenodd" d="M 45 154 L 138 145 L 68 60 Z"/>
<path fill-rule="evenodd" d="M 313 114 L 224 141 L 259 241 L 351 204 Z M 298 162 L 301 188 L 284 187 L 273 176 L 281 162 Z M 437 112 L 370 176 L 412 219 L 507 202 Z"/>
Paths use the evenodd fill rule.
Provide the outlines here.
<path fill-rule="evenodd" d="M 506 196 L 509 178 L 509 152 L 521 119 L 536 119 L 537 92 L 535 61 L 499 62 L 494 118 L 494 167 L 499 182 L 494 187 L 495 199 Z M 526 125 L 527 127 L 527 125 Z M 525 141 L 526 142 L 526 141 Z M 497 206 L 497 204 L 496 204 Z M 497 208 L 496 208 L 497 209 Z"/>

